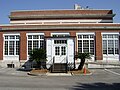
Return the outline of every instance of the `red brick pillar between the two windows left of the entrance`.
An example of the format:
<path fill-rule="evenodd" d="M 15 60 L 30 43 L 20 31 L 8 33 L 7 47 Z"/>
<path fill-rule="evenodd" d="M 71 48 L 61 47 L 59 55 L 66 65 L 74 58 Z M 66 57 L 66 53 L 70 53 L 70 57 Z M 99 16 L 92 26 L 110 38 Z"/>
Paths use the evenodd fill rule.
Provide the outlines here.
<path fill-rule="evenodd" d="M 27 60 L 27 37 L 26 32 L 20 33 L 20 60 Z"/>

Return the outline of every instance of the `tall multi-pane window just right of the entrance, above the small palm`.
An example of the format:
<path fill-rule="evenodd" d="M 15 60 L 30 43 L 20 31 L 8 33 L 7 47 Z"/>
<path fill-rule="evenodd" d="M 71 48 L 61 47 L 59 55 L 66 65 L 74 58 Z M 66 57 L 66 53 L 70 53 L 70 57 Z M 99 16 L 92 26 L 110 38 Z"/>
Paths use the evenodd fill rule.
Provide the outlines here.
<path fill-rule="evenodd" d="M 78 52 L 94 55 L 94 35 L 78 35 Z"/>

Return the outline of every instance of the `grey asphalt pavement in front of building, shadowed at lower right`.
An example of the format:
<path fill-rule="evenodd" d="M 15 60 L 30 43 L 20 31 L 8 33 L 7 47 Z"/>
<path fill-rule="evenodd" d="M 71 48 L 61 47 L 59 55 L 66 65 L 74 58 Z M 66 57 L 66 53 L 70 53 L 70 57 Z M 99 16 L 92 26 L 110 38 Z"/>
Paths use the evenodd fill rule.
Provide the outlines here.
<path fill-rule="evenodd" d="M 120 90 L 120 69 L 92 69 L 92 75 L 28 76 L 0 69 L 0 90 Z"/>

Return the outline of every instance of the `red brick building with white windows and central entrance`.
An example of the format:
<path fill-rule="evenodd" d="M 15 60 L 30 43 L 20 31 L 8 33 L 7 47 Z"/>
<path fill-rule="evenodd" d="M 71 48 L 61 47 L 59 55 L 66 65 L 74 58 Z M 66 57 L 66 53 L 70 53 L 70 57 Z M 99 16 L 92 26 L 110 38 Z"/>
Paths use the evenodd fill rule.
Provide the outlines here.
<path fill-rule="evenodd" d="M 32 49 L 45 48 L 47 63 L 77 63 L 76 52 L 94 61 L 120 60 L 120 24 L 112 10 L 12 11 L 10 24 L 0 25 L 0 63 L 19 67 Z M 49 67 L 49 66 L 47 66 Z"/>

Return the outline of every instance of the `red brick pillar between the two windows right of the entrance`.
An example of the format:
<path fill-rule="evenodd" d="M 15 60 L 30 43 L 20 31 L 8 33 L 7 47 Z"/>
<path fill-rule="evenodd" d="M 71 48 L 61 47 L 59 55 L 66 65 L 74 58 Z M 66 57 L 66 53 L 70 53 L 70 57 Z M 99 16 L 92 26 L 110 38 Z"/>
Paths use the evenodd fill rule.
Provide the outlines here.
<path fill-rule="evenodd" d="M 95 60 L 103 60 L 101 32 L 96 32 L 95 37 Z"/>

